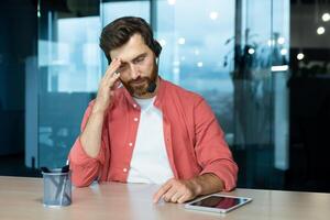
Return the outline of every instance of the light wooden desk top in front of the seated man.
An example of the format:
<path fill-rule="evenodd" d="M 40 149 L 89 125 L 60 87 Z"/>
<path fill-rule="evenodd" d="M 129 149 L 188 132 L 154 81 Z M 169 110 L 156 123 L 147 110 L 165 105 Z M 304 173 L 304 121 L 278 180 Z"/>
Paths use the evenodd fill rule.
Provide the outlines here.
<path fill-rule="evenodd" d="M 152 204 L 156 185 L 107 183 L 73 189 L 73 204 L 65 208 L 42 205 L 41 178 L 0 177 L 1 220 L 319 220 L 330 219 L 330 194 L 237 189 L 229 195 L 253 201 L 226 216 L 184 209 L 183 205 Z"/>

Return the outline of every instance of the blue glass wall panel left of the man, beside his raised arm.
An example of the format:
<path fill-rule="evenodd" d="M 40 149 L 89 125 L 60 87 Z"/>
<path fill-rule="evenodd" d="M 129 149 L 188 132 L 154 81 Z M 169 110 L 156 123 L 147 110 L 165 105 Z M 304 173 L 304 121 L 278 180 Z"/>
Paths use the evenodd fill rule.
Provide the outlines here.
<path fill-rule="evenodd" d="M 40 1 L 37 166 L 66 162 L 102 74 L 99 1 Z"/>

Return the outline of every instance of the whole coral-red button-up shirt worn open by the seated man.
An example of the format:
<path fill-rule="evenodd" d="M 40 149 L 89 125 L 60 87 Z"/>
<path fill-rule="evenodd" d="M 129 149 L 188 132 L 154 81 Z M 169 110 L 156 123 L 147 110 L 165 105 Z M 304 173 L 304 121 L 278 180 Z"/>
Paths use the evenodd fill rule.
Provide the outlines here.
<path fill-rule="evenodd" d="M 85 112 L 81 131 L 92 106 L 94 101 Z M 205 99 L 161 79 L 154 106 L 163 112 L 164 140 L 174 176 L 189 179 L 212 173 L 223 180 L 224 190 L 233 189 L 238 166 Z M 89 157 L 79 138 L 69 153 L 74 185 L 88 186 L 96 178 L 101 182 L 127 182 L 140 113 L 139 105 L 128 90 L 117 89 L 103 122 L 99 155 Z"/>

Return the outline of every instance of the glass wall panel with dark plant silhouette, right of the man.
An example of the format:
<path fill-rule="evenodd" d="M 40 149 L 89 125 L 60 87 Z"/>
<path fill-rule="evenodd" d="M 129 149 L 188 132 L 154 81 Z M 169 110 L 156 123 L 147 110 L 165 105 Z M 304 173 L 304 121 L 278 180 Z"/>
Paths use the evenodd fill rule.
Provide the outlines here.
<path fill-rule="evenodd" d="M 289 2 L 237 2 L 234 145 L 245 162 L 240 177 L 248 187 L 279 187 L 288 151 Z"/>

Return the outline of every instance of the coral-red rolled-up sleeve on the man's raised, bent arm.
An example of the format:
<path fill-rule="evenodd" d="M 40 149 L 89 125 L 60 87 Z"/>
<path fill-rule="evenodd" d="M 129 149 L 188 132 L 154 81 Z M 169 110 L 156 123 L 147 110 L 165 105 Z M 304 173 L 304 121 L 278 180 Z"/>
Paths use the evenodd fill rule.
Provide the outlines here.
<path fill-rule="evenodd" d="M 81 132 L 87 124 L 92 105 L 94 102 L 90 102 L 87 110 L 85 111 L 80 128 Z M 68 156 L 72 169 L 72 180 L 75 186 L 89 186 L 99 176 L 101 166 L 102 164 L 105 164 L 106 160 L 105 147 L 107 147 L 106 145 L 108 144 L 107 141 L 105 141 L 103 136 L 105 134 L 102 134 L 100 152 L 96 158 L 87 155 L 81 145 L 80 135 L 76 139 Z"/>

